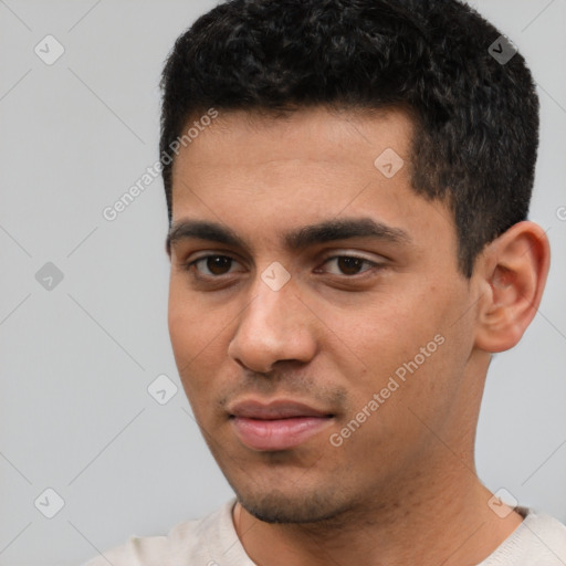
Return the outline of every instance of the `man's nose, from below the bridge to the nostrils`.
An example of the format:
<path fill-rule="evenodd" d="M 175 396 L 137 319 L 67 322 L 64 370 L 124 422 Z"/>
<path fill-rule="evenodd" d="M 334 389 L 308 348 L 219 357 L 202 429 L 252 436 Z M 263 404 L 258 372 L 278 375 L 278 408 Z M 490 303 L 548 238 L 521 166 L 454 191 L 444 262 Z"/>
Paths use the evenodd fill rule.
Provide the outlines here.
<path fill-rule="evenodd" d="M 277 361 L 310 361 L 316 353 L 316 316 L 297 296 L 292 280 L 273 291 L 261 277 L 240 315 L 228 355 L 254 373 Z"/>

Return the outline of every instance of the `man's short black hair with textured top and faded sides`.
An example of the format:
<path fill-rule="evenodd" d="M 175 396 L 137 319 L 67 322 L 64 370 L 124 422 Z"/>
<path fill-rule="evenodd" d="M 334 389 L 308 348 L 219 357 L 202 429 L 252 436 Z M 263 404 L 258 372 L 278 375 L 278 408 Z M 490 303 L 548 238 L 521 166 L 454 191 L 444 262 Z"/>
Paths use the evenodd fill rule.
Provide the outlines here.
<path fill-rule="evenodd" d="M 525 220 L 538 97 L 524 57 L 457 0 L 230 0 L 180 35 L 165 65 L 160 156 L 210 108 L 408 108 L 412 189 L 452 211 L 460 271 Z M 512 51 L 511 48 L 514 48 Z M 377 157 L 377 156 L 376 156 Z"/>

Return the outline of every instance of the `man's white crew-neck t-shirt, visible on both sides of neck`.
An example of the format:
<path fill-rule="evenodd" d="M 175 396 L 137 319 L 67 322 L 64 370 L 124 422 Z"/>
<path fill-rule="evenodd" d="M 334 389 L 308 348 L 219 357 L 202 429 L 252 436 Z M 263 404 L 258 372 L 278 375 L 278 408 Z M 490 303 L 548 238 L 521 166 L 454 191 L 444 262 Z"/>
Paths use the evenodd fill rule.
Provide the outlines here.
<path fill-rule="evenodd" d="M 167 536 L 132 536 L 82 566 L 256 566 L 232 522 L 235 497 L 214 513 L 174 526 Z M 565 566 L 566 526 L 520 509 L 523 523 L 478 566 Z"/>

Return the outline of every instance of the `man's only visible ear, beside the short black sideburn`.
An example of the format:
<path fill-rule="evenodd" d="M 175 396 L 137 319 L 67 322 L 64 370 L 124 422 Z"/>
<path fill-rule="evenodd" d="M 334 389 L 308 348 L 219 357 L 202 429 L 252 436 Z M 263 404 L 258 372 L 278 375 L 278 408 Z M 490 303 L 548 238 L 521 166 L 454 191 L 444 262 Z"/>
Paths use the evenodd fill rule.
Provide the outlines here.
<path fill-rule="evenodd" d="M 538 224 L 518 222 L 488 244 L 478 260 L 475 346 L 504 352 L 518 343 L 541 304 L 551 263 L 548 238 Z"/>

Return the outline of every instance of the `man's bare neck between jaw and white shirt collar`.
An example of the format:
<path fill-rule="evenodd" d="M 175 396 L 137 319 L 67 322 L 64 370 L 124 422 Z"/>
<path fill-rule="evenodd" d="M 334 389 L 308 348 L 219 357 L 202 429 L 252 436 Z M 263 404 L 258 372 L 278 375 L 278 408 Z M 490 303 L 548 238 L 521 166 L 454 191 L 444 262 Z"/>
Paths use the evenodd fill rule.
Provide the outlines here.
<path fill-rule="evenodd" d="M 517 513 L 500 518 L 488 506 L 491 492 L 473 463 L 444 452 L 442 469 L 420 470 L 429 473 L 400 479 L 331 521 L 270 524 L 237 503 L 234 526 L 258 566 L 463 566 L 485 559 L 521 524 Z"/>

